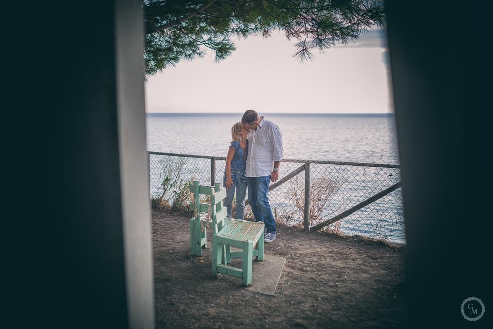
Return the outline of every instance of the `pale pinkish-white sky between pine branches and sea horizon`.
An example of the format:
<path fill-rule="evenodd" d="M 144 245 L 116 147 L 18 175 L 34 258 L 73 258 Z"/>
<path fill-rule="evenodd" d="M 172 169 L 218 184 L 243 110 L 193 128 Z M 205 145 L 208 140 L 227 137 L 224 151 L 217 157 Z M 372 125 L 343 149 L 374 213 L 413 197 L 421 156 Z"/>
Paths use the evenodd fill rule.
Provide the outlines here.
<path fill-rule="evenodd" d="M 393 113 L 385 31 L 305 63 L 292 57 L 295 41 L 251 36 L 218 63 L 212 51 L 181 61 L 148 79 L 146 112 Z"/>

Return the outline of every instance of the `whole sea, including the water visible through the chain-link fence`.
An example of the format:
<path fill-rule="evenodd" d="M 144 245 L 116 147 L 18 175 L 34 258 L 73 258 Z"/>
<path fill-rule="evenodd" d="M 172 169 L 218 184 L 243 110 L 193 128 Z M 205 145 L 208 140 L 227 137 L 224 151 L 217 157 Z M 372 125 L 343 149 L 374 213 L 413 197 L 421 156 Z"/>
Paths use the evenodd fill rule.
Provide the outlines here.
<path fill-rule="evenodd" d="M 241 121 L 242 114 L 148 113 L 147 150 L 226 157 L 231 141 L 231 127 Z M 399 164 L 394 114 L 261 113 L 261 115 L 280 128 L 285 159 Z M 157 157 L 161 158 L 161 156 Z M 151 160 L 156 163 L 156 159 Z M 203 161 L 201 165 L 198 160 L 193 162 L 195 166 L 202 168 L 204 177 L 210 177 L 210 160 L 207 161 Z M 286 162 L 282 167 L 284 172 L 288 173 L 299 165 L 299 163 Z M 400 181 L 398 168 L 337 165 L 328 167 L 322 164 L 312 164 L 311 168 L 312 184 L 320 177 L 328 177 L 342 184 L 338 192 L 332 195 L 330 203 L 324 206 L 322 215 L 325 219 Z M 224 161 L 217 162 L 216 169 L 216 182 L 218 182 L 224 172 Z M 151 173 L 151 176 L 155 174 Z M 304 175 L 297 175 L 295 178 L 303 179 Z M 288 181 L 281 188 L 269 192 L 272 207 L 294 208 L 293 200 L 286 196 L 290 184 L 291 182 Z M 153 183 L 151 178 L 151 189 L 157 191 L 159 186 L 159 180 Z M 302 188 L 302 182 L 300 186 Z M 283 216 L 287 218 L 288 215 L 286 213 Z M 299 224 L 303 216 L 298 214 L 295 218 Z M 341 223 L 340 229 L 346 235 L 380 237 L 390 242 L 405 243 L 400 189 L 363 207 Z"/>

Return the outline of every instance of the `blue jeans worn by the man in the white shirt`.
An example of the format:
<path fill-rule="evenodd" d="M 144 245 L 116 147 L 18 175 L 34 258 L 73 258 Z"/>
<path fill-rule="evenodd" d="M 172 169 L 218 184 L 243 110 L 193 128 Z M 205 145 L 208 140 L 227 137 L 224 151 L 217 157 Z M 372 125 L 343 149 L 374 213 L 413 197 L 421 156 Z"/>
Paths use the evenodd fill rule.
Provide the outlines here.
<path fill-rule="evenodd" d="M 255 221 L 263 221 L 267 233 L 276 233 L 276 222 L 267 197 L 271 175 L 247 177 L 246 183 L 248 184 L 248 201 L 250 202 L 253 216 L 255 216 Z"/>

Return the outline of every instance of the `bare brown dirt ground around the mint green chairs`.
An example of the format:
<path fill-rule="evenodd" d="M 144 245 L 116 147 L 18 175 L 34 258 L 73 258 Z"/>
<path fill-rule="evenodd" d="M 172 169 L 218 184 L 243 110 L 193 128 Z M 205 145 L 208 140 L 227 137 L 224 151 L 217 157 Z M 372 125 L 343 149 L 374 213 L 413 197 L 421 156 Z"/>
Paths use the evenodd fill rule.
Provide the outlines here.
<path fill-rule="evenodd" d="M 405 247 L 278 224 L 265 253 L 286 263 L 269 296 L 204 270 L 210 249 L 190 256 L 188 216 L 153 211 L 152 223 L 158 329 L 405 327 Z"/>

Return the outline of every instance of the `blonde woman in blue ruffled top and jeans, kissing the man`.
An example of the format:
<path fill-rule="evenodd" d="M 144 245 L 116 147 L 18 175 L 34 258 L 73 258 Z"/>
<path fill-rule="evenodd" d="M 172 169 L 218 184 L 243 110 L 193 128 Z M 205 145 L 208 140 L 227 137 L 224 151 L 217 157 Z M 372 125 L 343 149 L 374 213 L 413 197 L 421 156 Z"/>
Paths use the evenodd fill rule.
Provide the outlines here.
<path fill-rule="evenodd" d="M 236 189 L 236 219 L 243 219 L 245 214 L 245 166 L 246 155 L 248 154 L 248 141 L 246 140 L 246 136 L 248 136 L 248 131 L 243 128 L 242 123 L 235 123 L 231 128 L 231 137 L 233 138 L 233 141 L 229 146 L 223 180 L 223 185 L 226 187 L 224 206 L 228 211 L 228 217 L 232 217 L 231 204 L 233 203 Z"/>

